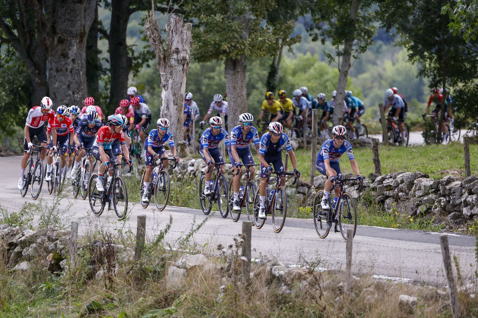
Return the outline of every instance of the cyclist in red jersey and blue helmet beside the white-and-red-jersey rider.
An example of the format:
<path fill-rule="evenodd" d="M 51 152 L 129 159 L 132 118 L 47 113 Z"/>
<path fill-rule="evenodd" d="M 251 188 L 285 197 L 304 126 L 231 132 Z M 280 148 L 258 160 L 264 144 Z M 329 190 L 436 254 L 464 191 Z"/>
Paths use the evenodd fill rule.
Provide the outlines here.
<path fill-rule="evenodd" d="M 53 154 L 55 151 L 53 138 L 50 138 L 50 133 L 53 131 L 53 128 L 56 132 L 56 142 L 60 145 L 61 148 L 61 168 L 65 168 L 66 166 L 66 151 L 73 150 L 73 135 L 75 130 L 73 130 L 73 122 L 71 119 L 68 118 L 68 108 L 65 105 L 61 105 L 56 109 L 56 115 L 53 118 L 48 120 L 48 127 L 46 128 L 46 138 L 48 140 L 48 144 L 50 145 L 50 153 Z M 53 133 L 52 133 L 53 134 Z M 59 150 L 59 149 L 58 149 Z M 48 156 L 46 157 L 46 181 L 51 181 L 52 176 L 52 164 L 53 164 L 53 157 Z"/>

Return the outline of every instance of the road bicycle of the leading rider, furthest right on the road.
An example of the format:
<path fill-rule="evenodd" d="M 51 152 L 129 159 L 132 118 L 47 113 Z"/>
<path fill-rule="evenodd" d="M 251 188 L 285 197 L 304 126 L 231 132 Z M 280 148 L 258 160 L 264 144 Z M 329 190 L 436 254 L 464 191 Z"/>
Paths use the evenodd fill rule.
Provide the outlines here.
<path fill-rule="evenodd" d="M 344 190 L 344 183 L 347 181 L 356 181 L 356 178 L 346 178 L 346 179 L 336 179 L 334 189 L 340 188 L 340 195 L 338 196 L 337 201 L 332 203 L 331 195 L 328 197 L 329 209 L 322 209 L 322 198 L 324 197 L 324 190 L 318 190 L 314 196 L 314 203 L 312 206 L 312 212 L 314 215 L 314 225 L 315 232 L 320 238 L 326 238 L 334 223 L 335 216 L 338 213 L 338 225 L 340 229 L 340 234 L 344 241 L 347 241 L 347 230 L 353 229 L 353 236 L 355 236 L 355 231 L 357 230 L 357 208 L 355 206 L 354 199 L 352 195 Z M 363 188 L 362 185 L 356 189 L 360 191 Z M 333 189 L 330 191 L 332 194 Z M 337 230 L 337 221 L 335 221 L 335 232 Z"/>

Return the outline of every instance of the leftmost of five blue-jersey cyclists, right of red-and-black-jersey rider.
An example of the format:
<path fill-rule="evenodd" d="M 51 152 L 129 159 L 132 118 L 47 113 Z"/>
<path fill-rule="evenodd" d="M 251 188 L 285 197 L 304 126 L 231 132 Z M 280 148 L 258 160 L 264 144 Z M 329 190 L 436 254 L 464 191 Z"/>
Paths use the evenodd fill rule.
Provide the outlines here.
<path fill-rule="evenodd" d="M 179 158 L 176 156 L 176 147 L 174 147 L 174 138 L 173 133 L 168 130 L 169 120 L 166 118 L 160 118 L 156 122 L 157 129 L 153 129 L 148 135 L 148 141 L 144 148 L 144 164 L 146 165 L 146 173 L 144 174 L 144 192 L 141 197 L 141 201 L 144 203 L 149 202 L 148 199 L 148 187 L 151 182 L 151 173 L 152 166 L 154 165 L 155 159 L 159 157 L 167 158 L 168 153 L 164 149 L 164 144 L 169 143 L 169 148 L 171 149 L 171 154 L 173 154 L 176 162 Z M 169 160 L 164 160 L 163 165 L 167 167 Z"/>

